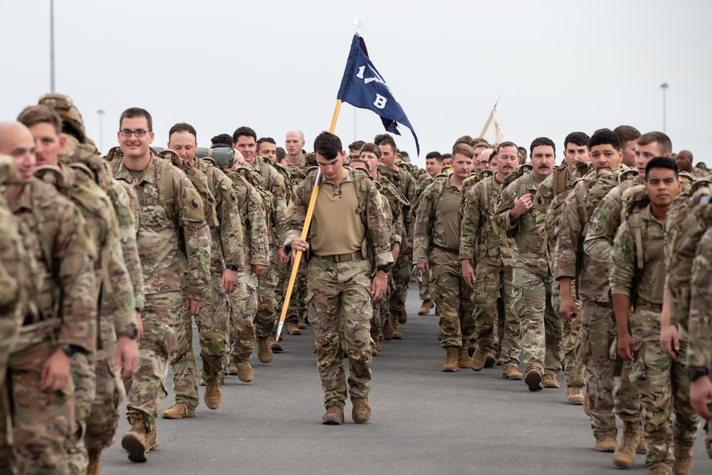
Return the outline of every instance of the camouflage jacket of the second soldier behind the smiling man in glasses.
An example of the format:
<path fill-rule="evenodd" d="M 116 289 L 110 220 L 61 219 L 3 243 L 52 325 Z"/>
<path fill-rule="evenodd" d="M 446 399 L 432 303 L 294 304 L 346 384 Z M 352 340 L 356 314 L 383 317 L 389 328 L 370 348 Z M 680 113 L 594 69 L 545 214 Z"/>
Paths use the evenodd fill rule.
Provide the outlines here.
<path fill-rule="evenodd" d="M 259 192 L 238 172 L 230 172 L 232 191 L 237 197 L 237 209 L 241 218 L 244 264 L 248 266 L 269 266 L 267 234 L 267 214 Z"/>

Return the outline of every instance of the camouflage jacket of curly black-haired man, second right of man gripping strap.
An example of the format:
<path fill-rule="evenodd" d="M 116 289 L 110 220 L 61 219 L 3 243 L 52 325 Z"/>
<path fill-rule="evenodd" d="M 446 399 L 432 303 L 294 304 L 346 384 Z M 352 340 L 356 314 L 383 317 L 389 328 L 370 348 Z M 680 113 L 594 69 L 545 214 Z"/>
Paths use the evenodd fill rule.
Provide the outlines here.
<path fill-rule="evenodd" d="M 564 202 L 562 226 L 557 235 L 554 252 L 555 278 L 570 277 L 577 280 L 581 298 L 588 301 L 610 303 L 608 273 L 610 265 L 594 261 L 582 252 L 587 234 L 590 204 L 587 196 L 594 187 L 607 187 L 617 182 L 621 169 L 597 172 L 595 177 L 580 179 L 573 185 Z"/>

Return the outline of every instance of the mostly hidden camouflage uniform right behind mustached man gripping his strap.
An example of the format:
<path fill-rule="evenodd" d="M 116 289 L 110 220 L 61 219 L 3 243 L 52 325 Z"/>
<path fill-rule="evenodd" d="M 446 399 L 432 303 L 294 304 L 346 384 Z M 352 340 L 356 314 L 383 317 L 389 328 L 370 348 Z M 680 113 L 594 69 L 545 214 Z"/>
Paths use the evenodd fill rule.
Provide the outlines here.
<path fill-rule="evenodd" d="M 579 162 L 581 164 L 580 170 L 583 170 L 587 164 Z M 565 187 L 563 189 L 555 189 L 554 179 L 558 177 L 558 174 L 564 174 L 565 176 Z M 567 192 L 571 190 L 573 178 L 568 172 L 567 162 L 562 163 L 559 167 L 556 167 L 552 174 L 544 179 L 539 185 L 536 196 L 534 197 L 534 206 L 537 209 L 537 231 L 544 237 L 546 242 L 546 254 L 550 262 L 554 262 L 554 251 L 556 246 L 555 236 L 550 236 L 548 230 L 546 229 L 547 213 L 551 207 L 554 199 L 564 200 L 566 198 Z M 558 188 L 558 186 L 556 187 Z M 556 275 L 556 269 L 553 269 L 554 275 Z M 571 282 L 571 292 L 572 297 L 575 297 L 575 281 Z M 556 298 L 552 301 L 554 310 L 558 311 L 560 306 L 560 298 L 558 294 Z M 577 302 L 577 307 L 580 308 L 580 303 Z M 577 311 L 577 314 L 580 310 Z M 583 387 L 586 383 L 584 372 L 585 366 L 576 357 L 576 344 L 578 342 L 578 334 L 581 326 L 580 318 L 572 318 L 570 320 L 562 320 L 562 350 L 564 353 L 565 369 L 564 369 L 564 380 L 567 387 Z"/>

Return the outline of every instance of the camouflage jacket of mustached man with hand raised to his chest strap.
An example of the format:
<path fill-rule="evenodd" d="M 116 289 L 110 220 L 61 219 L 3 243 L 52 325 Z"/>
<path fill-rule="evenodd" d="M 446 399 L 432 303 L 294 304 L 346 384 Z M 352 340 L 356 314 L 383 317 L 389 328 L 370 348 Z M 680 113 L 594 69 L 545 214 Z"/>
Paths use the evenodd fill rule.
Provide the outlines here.
<path fill-rule="evenodd" d="M 536 208 L 532 207 L 514 222 L 510 217 L 514 208 L 514 199 L 527 193 L 535 196 L 536 190 L 537 184 L 534 181 L 533 173 L 527 172 L 522 177 L 515 179 L 501 191 L 497 199 L 495 219 L 498 226 L 507 231 L 508 235 L 513 235 L 512 267 L 525 268 L 539 276 L 548 276 L 551 271 L 549 261 L 541 251 L 544 238 L 536 229 L 538 213 Z"/>

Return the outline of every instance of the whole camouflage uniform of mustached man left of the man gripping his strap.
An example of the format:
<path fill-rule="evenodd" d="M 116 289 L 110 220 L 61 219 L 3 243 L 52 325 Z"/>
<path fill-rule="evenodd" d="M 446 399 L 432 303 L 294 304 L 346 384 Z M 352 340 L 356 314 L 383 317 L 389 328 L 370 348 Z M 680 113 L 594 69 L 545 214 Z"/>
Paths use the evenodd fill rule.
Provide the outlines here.
<path fill-rule="evenodd" d="M 513 310 L 512 251 L 514 240 L 495 221 L 496 203 L 502 183 L 486 177 L 464 196 L 460 260 L 470 259 L 475 269 L 472 297 L 477 348 L 483 353 L 497 350 L 497 299 L 504 303 L 502 369 L 519 366 L 520 319 Z"/>

